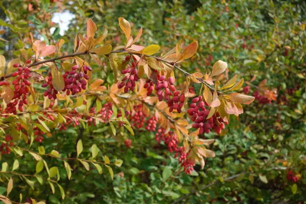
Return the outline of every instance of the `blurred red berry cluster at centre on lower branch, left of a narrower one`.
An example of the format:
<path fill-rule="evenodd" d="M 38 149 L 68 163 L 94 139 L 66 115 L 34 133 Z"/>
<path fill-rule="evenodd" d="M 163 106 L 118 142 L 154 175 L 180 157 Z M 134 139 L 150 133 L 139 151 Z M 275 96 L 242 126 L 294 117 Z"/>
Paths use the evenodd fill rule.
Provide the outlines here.
<path fill-rule="evenodd" d="M 136 128 L 141 128 L 144 124 L 144 119 L 147 117 L 145 112 L 143 111 L 143 105 L 138 104 L 133 106 L 133 110 L 126 111 L 126 115 L 129 115 L 130 124 Z"/>

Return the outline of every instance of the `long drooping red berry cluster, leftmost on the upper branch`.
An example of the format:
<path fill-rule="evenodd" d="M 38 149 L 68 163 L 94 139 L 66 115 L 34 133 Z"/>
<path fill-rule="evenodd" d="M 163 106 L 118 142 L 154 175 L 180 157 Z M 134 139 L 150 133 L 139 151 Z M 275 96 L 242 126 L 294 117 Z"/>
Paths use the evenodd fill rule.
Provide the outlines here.
<path fill-rule="evenodd" d="M 12 102 L 9 102 L 5 111 L 8 113 L 17 113 L 16 105 L 18 104 L 19 111 L 22 111 L 23 104 L 27 104 L 27 93 L 29 92 L 29 86 L 31 82 L 27 80 L 30 77 L 30 70 L 28 67 L 20 67 L 19 63 L 13 64 L 14 67 L 18 67 L 18 71 L 13 72 L 12 76 L 17 76 L 12 84 L 14 85 L 14 95 Z"/>

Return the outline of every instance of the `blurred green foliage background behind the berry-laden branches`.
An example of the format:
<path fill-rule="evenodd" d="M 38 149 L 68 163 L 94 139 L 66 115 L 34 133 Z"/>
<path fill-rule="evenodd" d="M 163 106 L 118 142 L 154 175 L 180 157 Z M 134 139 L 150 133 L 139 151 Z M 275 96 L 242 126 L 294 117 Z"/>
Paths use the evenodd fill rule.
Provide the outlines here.
<path fill-rule="evenodd" d="M 23 198 L 47 203 L 303 203 L 305 5 L 299 0 L 2 1 L 0 37 L 7 41 L 0 40 L 0 54 L 7 61 L 26 46 L 28 42 L 23 39 L 29 37 L 29 31 L 50 44 L 62 38 L 62 50 L 73 50 L 74 36 L 85 32 L 89 17 L 99 32 L 107 27 L 106 43 L 123 44 L 125 39 L 117 24 L 117 18 L 123 16 L 134 23 L 134 35 L 143 27 L 143 45 L 155 43 L 161 45 L 162 51 L 168 51 L 167 47 L 177 42 L 189 44 L 197 40 L 196 56 L 183 62 L 185 70 L 209 72 L 212 64 L 221 59 L 228 63 L 228 78 L 238 74 L 247 81 L 249 94 L 257 94 L 253 103 L 244 106 L 239 118 L 231 115 L 220 135 L 205 134 L 205 138 L 215 138 L 211 149 L 216 156 L 205 159 L 204 169 L 195 166 L 191 175 L 178 173 L 177 159 L 165 145 L 155 141 L 152 132 L 136 129 L 134 136 L 125 132 L 118 139 L 103 124 L 71 126 L 66 131 L 54 131 L 51 137 L 44 136 L 46 152 L 56 149 L 62 155 L 73 151 L 75 154 L 76 138 L 82 138 L 84 149 L 96 143 L 99 155 L 123 160 L 121 167 L 113 168 L 114 179 L 108 173 L 75 167 L 81 164 L 73 162 L 72 179 L 64 179 L 63 164 L 48 159 L 49 166 L 61 166 L 59 183 L 65 199 L 61 200 L 57 188 L 53 194 L 48 184 L 35 181 L 29 188 L 21 177 L 14 179 L 10 198 L 18 201 L 22 193 Z M 52 22 L 55 12 L 74 16 L 62 36 L 59 25 Z M 50 31 L 50 27 L 54 28 Z M 93 74 L 104 79 L 105 86 L 114 82 L 107 61 L 101 66 L 92 65 L 92 69 L 96 70 Z M 176 74 L 176 80 L 184 81 L 181 73 Z M 194 84 L 196 93 L 200 88 Z M 262 90 L 270 90 L 271 94 L 262 99 L 258 96 Z M 131 139 L 130 147 L 124 145 L 127 138 Z M 33 143 L 31 148 L 37 150 L 40 145 Z M 3 155 L 0 162 L 12 166 L 14 159 L 11 153 Z M 29 154 L 23 155 L 19 166 L 20 172 L 34 174 L 36 161 Z M 0 174 L 0 181 L 0 193 L 5 194 L 4 174 Z"/>

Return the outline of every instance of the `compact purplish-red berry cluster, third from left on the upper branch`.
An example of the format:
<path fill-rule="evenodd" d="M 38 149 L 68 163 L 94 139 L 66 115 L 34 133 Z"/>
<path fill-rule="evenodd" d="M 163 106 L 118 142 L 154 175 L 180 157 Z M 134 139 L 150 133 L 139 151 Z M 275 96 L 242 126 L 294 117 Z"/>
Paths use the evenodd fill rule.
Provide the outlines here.
<path fill-rule="evenodd" d="M 66 91 L 66 94 L 70 93 L 74 95 L 75 93 L 80 92 L 82 89 L 86 89 L 87 80 L 89 79 L 87 71 L 91 71 L 91 67 L 83 65 L 80 69 L 78 65 L 71 67 L 71 71 L 65 71 L 62 75 L 65 81 L 65 87 L 62 91 Z M 79 69 L 79 70 L 78 70 Z"/>

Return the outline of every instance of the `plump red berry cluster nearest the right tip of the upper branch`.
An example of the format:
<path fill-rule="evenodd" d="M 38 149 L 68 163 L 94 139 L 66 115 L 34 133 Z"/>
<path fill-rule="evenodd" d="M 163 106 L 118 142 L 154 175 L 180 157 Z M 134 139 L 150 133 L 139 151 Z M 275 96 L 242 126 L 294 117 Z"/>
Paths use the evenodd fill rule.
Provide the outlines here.
<path fill-rule="evenodd" d="M 205 102 L 202 100 L 202 96 L 197 96 L 192 99 L 192 103 L 189 104 L 187 113 L 191 116 L 193 128 L 199 128 L 199 134 L 209 133 L 210 129 L 214 129 L 216 133 L 221 133 L 221 130 L 225 128 L 225 124 L 220 115 L 215 113 L 208 119 L 206 119 L 209 110 L 205 108 Z"/>

